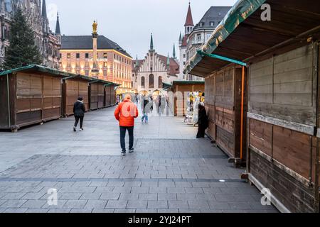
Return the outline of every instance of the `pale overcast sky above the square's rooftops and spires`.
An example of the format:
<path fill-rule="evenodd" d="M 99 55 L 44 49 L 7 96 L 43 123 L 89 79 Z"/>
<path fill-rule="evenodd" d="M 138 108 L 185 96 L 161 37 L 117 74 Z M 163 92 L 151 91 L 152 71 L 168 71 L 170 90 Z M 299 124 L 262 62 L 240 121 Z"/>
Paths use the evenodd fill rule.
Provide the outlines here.
<path fill-rule="evenodd" d="M 178 36 L 183 32 L 188 0 L 47 0 L 51 30 L 55 31 L 56 11 L 60 14 L 61 33 L 90 35 L 97 20 L 99 35 L 105 35 L 142 59 L 149 50 L 150 35 L 161 55 L 178 55 Z M 196 24 L 210 6 L 233 6 L 236 0 L 191 0 Z"/>

